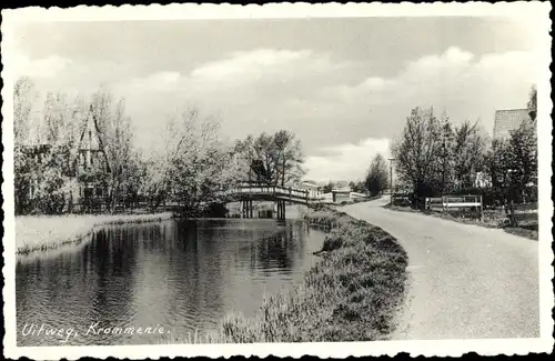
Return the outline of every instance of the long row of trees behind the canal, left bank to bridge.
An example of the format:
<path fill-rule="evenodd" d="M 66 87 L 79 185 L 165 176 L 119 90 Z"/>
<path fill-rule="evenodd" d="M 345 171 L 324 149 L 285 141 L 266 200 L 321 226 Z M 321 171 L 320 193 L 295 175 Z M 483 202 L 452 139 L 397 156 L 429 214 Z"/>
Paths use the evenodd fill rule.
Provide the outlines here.
<path fill-rule="evenodd" d="M 220 119 L 189 108 L 165 122 L 161 150 L 143 152 L 133 146 L 124 99 L 105 88 L 74 99 L 47 92 L 38 114 L 29 78 L 18 79 L 13 97 L 16 214 L 71 211 L 77 183 L 105 189 L 108 212 L 141 201 L 151 210 L 175 202 L 192 217 L 225 201 L 225 191 L 243 181 L 284 185 L 304 173 L 301 142 L 285 130 L 230 143 L 222 140 Z M 100 151 L 83 169 L 80 146 L 90 117 Z"/>

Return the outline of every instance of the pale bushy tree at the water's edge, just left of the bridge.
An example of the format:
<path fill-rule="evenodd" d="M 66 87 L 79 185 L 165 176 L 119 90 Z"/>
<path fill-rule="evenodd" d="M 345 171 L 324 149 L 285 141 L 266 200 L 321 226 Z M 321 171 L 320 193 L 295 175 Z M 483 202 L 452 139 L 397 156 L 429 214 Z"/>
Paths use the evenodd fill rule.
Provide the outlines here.
<path fill-rule="evenodd" d="M 161 176 L 154 183 L 174 197 L 185 217 L 199 215 L 203 208 L 222 201 L 225 190 L 240 181 L 243 159 L 220 141 L 219 129 L 218 119 L 201 118 L 196 109 L 169 121 Z"/>

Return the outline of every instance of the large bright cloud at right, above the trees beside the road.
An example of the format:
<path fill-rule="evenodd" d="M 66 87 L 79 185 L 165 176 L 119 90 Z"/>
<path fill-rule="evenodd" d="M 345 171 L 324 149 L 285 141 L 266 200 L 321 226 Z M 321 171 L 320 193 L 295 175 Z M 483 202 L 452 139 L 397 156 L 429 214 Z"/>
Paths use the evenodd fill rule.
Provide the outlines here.
<path fill-rule="evenodd" d="M 475 57 L 452 47 L 408 61 L 390 78 L 370 74 L 352 86 L 330 86 L 317 92 L 314 102 L 336 113 L 347 111 L 353 122 L 366 118 L 381 123 L 381 130 L 374 129 L 379 137 L 397 134 L 406 114 L 418 106 L 434 106 L 455 122 L 482 119 L 491 131 L 496 109 L 525 107 L 529 87 L 538 81 L 535 59 L 524 51 Z"/>

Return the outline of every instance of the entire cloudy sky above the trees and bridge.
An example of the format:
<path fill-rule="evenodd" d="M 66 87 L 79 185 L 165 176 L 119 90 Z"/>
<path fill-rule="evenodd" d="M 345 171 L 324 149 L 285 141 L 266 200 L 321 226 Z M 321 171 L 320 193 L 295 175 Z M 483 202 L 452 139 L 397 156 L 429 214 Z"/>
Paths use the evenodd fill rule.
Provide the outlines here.
<path fill-rule="evenodd" d="M 195 106 L 226 138 L 287 129 L 307 179 L 359 179 L 385 157 L 411 108 L 455 122 L 522 108 L 537 81 L 534 24 L 502 18 L 42 22 L 19 26 L 18 74 L 46 92 L 108 87 L 138 147 Z"/>

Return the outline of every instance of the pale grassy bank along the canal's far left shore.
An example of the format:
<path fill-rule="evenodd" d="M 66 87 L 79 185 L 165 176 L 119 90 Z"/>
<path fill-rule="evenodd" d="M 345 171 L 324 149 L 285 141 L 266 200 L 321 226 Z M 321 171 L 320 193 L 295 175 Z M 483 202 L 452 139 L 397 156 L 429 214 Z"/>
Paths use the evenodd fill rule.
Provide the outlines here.
<path fill-rule="evenodd" d="M 46 251 L 79 243 L 97 227 L 121 223 L 157 222 L 172 213 L 153 214 L 70 214 L 16 217 L 16 253 Z"/>

